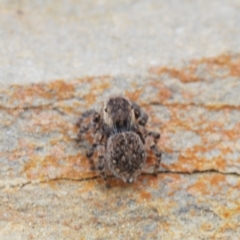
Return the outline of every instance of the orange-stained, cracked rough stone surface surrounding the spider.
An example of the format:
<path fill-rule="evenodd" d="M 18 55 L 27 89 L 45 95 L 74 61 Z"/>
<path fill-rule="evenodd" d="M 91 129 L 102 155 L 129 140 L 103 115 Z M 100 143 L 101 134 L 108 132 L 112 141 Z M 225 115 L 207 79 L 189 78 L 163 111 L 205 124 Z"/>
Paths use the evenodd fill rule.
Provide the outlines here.
<path fill-rule="evenodd" d="M 161 132 L 134 184 L 106 189 L 75 142 L 82 111 L 122 93 Z M 0 90 L 1 239 L 238 239 L 240 55 Z"/>

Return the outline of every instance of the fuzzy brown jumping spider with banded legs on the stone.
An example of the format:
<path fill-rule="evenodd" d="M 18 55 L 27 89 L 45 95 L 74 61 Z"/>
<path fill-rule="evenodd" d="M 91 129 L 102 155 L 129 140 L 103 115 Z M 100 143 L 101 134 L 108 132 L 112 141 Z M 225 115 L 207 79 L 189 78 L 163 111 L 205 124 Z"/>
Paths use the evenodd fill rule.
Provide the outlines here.
<path fill-rule="evenodd" d="M 91 122 L 84 124 L 86 118 L 91 118 Z M 88 130 L 94 133 L 86 156 L 94 170 L 92 156 L 97 149 L 98 170 L 105 182 L 108 171 L 125 183 L 134 182 L 143 169 L 147 145 L 156 156 L 154 174 L 157 174 L 161 152 L 156 144 L 160 134 L 145 129 L 147 120 L 147 114 L 136 103 L 119 96 L 109 98 L 100 112 L 89 110 L 82 114 L 77 122 L 78 140 Z"/>

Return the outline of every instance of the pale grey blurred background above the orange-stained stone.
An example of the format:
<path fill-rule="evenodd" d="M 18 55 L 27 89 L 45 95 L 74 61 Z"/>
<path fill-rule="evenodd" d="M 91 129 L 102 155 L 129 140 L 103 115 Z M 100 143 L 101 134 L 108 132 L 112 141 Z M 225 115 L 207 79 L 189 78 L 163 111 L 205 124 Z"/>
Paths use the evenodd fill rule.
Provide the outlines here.
<path fill-rule="evenodd" d="M 240 51 L 239 0 L 0 0 L 0 84 L 144 74 Z"/>

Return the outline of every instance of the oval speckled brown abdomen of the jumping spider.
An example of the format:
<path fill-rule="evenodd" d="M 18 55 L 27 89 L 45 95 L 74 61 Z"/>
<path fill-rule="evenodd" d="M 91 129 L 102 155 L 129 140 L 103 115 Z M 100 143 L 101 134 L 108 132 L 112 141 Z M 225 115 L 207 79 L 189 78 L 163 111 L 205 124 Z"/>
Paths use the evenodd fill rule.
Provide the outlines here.
<path fill-rule="evenodd" d="M 117 133 L 109 137 L 106 147 L 109 170 L 124 182 L 134 182 L 145 163 L 145 149 L 134 132 Z"/>

